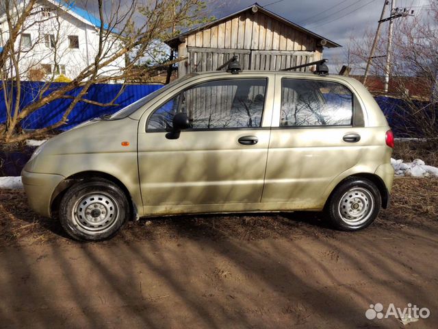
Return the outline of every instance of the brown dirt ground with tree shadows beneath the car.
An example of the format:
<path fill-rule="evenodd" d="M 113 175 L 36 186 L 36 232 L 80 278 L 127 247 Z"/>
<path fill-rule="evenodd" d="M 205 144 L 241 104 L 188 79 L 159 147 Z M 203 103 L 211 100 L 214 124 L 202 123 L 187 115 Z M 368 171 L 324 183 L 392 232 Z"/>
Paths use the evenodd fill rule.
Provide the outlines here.
<path fill-rule="evenodd" d="M 77 243 L 0 190 L 1 328 L 437 328 L 438 180 L 396 179 L 370 228 L 313 212 L 158 218 Z M 430 317 L 369 320 L 370 304 Z"/>

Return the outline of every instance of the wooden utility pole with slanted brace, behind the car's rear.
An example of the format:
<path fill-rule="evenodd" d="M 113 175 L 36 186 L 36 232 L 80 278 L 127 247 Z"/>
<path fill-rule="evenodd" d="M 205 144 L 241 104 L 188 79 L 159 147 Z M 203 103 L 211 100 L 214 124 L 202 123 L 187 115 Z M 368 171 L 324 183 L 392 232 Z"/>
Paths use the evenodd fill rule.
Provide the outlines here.
<path fill-rule="evenodd" d="M 376 30 L 376 36 L 374 36 L 374 41 L 371 48 L 370 57 L 368 58 L 367 67 L 365 69 L 365 74 L 363 77 L 363 84 L 365 84 L 368 74 L 370 73 L 370 67 L 372 64 L 373 58 L 381 58 L 386 57 L 385 64 L 385 93 L 388 92 L 389 86 L 389 72 L 391 71 L 391 47 L 392 47 L 392 29 L 393 29 L 393 21 L 394 19 L 398 19 L 399 17 L 413 16 L 413 10 L 409 12 L 407 8 L 396 8 L 396 0 L 391 0 L 391 14 L 386 19 L 383 18 L 385 16 L 386 6 L 389 4 L 389 1 L 385 0 L 383 4 L 381 19 L 378 20 L 378 26 Z M 389 29 L 388 29 L 388 42 L 387 42 L 387 54 L 383 56 L 374 56 L 374 51 L 376 51 L 378 38 L 380 37 L 381 32 L 381 24 L 383 22 L 389 21 Z"/>

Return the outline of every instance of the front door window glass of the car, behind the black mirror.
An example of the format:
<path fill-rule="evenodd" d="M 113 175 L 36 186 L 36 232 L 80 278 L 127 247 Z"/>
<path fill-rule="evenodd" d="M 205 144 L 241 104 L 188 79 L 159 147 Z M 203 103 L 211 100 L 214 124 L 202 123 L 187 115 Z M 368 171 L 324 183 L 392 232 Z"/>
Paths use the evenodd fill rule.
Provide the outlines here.
<path fill-rule="evenodd" d="M 155 110 L 147 130 L 168 130 L 178 112 L 188 115 L 192 129 L 261 127 L 266 79 L 216 80 L 184 90 Z"/>

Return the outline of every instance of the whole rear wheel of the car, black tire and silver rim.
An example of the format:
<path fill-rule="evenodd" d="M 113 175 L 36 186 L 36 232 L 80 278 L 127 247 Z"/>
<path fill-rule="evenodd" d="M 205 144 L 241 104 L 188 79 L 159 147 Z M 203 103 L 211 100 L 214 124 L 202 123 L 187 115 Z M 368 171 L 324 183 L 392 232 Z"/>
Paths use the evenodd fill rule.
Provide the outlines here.
<path fill-rule="evenodd" d="M 338 230 L 357 231 L 370 226 L 381 206 L 381 193 L 373 182 L 366 178 L 348 178 L 335 188 L 325 212 Z"/>

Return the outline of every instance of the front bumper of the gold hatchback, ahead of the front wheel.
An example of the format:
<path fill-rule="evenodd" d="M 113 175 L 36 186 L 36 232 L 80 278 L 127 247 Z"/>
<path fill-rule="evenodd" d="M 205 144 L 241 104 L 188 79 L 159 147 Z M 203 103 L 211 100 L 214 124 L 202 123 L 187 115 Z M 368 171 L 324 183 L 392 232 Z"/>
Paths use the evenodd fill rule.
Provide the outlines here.
<path fill-rule="evenodd" d="M 21 179 L 30 208 L 44 217 L 51 217 L 52 195 L 55 188 L 65 179 L 64 176 L 23 170 Z"/>

